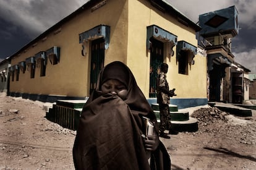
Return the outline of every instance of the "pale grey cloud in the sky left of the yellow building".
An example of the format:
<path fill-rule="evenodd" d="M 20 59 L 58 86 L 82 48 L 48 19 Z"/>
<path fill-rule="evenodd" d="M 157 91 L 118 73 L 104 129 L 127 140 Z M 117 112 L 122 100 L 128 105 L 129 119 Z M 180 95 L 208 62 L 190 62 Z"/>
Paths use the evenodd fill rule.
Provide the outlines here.
<path fill-rule="evenodd" d="M 80 3 L 79 3 L 80 2 Z M 23 27 L 28 35 L 34 38 L 63 19 L 82 1 L 69 0 L 2 0 L 0 1 L 0 16 L 2 19 Z"/>

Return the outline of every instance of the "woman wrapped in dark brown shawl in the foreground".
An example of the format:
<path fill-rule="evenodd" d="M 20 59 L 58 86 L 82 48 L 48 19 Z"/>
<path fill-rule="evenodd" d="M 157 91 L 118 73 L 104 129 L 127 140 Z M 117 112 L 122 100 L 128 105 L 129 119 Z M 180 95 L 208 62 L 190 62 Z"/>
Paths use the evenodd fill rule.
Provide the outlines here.
<path fill-rule="evenodd" d="M 145 134 L 143 117 L 153 122 L 153 135 Z M 122 62 L 101 70 L 83 106 L 73 158 L 75 169 L 170 169 L 155 114 Z"/>

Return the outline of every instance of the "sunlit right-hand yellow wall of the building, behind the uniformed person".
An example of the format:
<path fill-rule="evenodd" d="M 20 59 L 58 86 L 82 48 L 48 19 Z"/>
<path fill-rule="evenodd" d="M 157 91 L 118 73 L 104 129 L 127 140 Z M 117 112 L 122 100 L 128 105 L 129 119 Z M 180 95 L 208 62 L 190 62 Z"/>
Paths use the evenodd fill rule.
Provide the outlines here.
<path fill-rule="evenodd" d="M 177 41 L 187 41 L 197 46 L 195 30 L 182 25 L 177 19 L 151 6 L 148 1 L 129 1 L 129 33 L 127 65 L 133 70 L 139 87 L 148 97 L 150 51 L 147 51 L 147 26 L 157 25 L 177 36 Z M 169 65 L 167 79 L 170 88 L 176 88 L 174 98 L 207 98 L 207 58 L 197 54 L 189 74 L 178 74 L 176 46 L 174 56 L 164 56 Z"/>

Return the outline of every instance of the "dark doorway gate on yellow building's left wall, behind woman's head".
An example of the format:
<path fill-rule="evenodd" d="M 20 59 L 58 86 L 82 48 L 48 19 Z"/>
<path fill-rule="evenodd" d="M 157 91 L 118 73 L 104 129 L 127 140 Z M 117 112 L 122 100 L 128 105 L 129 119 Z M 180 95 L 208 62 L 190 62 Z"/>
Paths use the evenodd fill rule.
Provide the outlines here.
<path fill-rule="evenodd" d="M 105 40 L 103 38 L 92 41 L 92 59 L 90 74 L 90 93 L 96 88 L 98 74 L 104 67 L 105 59 Z"/>

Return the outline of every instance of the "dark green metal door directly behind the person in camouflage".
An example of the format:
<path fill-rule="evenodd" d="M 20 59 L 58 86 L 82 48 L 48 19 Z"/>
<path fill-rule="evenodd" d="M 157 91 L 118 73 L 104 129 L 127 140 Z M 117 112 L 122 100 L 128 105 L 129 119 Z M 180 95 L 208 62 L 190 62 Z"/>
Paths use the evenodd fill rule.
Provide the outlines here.
<path fill-rule="evenodd" d="M 149 97 L 156 98 L 156 78 L 160 73 L 160 66 L 163 63 L 163 43 L 150 38 L 150 89 Z"/>

